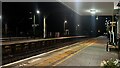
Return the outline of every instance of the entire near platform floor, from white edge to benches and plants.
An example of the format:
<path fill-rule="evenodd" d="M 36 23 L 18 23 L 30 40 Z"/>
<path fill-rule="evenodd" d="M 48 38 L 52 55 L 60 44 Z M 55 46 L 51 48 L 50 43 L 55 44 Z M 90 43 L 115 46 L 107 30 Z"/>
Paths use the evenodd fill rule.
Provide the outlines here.
<path fill-rule="evenodd" d="M 111 58 L 118 59 L 118 53 L 116 51 L 106 51 L 107 41 L 108 39 L 104 36 L 90 38 L 69 46 L 3 65 L 3 68 L 101 66 L 101 62 L 104 60 Z"/>

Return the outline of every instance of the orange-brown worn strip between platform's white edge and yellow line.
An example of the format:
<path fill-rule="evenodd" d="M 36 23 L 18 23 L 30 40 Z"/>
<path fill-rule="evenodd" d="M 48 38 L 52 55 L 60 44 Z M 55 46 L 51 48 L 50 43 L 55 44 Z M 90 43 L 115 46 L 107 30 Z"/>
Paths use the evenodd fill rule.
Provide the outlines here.
<path fill-rule="evenodd" d="M 86 39 L 84 39 L 84 40 L 86 40 Z M 79 42 L 79 43 L 78 43 Z M 72 45 L 70 45 L 70 43 L 68 42 L 68 43 L 66 43 L 66 44 L 68 44 L 69 46 L 67 46 L 67 45 L 65 45 L 64 44 L 64 47 L 62 47 L 62 48 L 58 48 L 57 50 L 55 50 L 55 51 L 53 51 L 53 52 L 51 52 L 51 53 L 48 53 L 46 56 L 50 56 L 50 55 L 53 55 L 52 57 L 50 56 L 49 58 L 45 58 L 46 56 L 41 56 L 42 57 L 42 59 L 44 58 L 44 60 L 42 61 L 42 60 L 40 60 L 41 62 L 38 62 L 39 64 L 35 64 L 36 66 L 48 66 L 48 65 L 53 65 L 53 64 L 55 64 L 56 62 L 58 62 L 58 61 L 60 61 L 60 60 L 62 60 L 62 59 L 64 59 L 65 57 L 67 57 L 67 56 L 69 56 L 69 55 L 71 55 L 71 54 L 73 54 L 73 53 L 75 53 L 75 52 L 77 52 L 78 50 L 80 50 L 80 49 L 82 49 L 82 48 L 84 48 L 84 47 L 86 47 L 86 46 L 88 46 L 91 42 L 94 42 L 94 41 L 91 41 L 91 40 L 88 40 L 87 39 L 87 41 L 83 41 L 83 40 L 77 40 L 77 41 L 74 41 L 74 43 L 75 44 L 73 44 L 73 42 L 71 43 Z M 61 45 L 63 45 L 63 44 L 61 44 Z M 72 48 L 72 49 L 71 49 Z M 60 51 L 62 51 L 63 50 L 63 52 L 62 52 L 62 54 L 60 54 L 61 52 Z M 59 53 L 60 52 L 60 53 Z M 56 53 L 57 55 L 54 55 L 54 53 Z M 11 65 L 11 68 L 13 67 L 13 66 L 24 66 L 24 65 L 28 65 L 28 66 L 31 66 L 31 64 L 30 64 L 30 62 L 34 62 L 34 61 L 37 61 L 37 60 L 39 60 L 39 59 L 41 59 L 41 58 L 35 58 L 35 59 L 33 59 L 33 60 L 30 60 L 30 61 L 25 61 L 25 62 L 21 62 L 21 63 L 18 63 L 18 64 L 13 64 L 13 65 Z M 41 64 L 40 64 L 41 63 Z M 34 63 L 32 63 L 32 64 L 34 64 Z M 33 65 L 34 66 L 34 65 Z"/>

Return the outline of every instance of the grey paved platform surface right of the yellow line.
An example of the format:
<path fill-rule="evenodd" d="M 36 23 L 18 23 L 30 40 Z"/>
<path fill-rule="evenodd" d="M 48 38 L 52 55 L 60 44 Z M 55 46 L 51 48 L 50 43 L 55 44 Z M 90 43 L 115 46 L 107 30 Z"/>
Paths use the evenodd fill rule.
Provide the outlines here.
<path fill-rule="evenodd" d="M 69 57 L 56 66 L 101 66 L 103 60 L 117 59 L 117 52 L 106 52 L 107 38 L 100 36 L 95 38 L 96 42 L 77 54 Z"/>

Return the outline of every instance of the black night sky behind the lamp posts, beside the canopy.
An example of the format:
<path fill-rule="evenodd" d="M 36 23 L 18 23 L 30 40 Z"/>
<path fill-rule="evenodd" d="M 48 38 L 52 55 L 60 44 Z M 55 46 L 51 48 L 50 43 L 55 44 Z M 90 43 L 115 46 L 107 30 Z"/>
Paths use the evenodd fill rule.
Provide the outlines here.
<path fill-rule="evenodd" d="M 36 14 L 36 10 L 40 14 Z M 32 12 L 32 14 L 30 14 Z M 36 36 L 43 34 L 43 17 L 46 16 L 47 33 L 60 32 L 61 36 L 64 33 L 64 21 L 67 20 L 67 28 L 71 35 L 97 35 L 97 30 L 105 32 L 105 18 L 110 16 L 99 16 L 99 21 L 96 21 L 96 16 L 80 16 L 68 7 L 58 2 L 3 2 L 2 3 L 3 16 L 3 36 L 5 24 L 7 24 L 7 36 L 32 36 L 33 35 L 33 20 L 29 19 L 36 16 Z M 80 25 L 78 31 L 76 26 Z M 94 31 L 94 33 L 91 33 Z M 27 35 L 29 34 L 29 35 Z"/>

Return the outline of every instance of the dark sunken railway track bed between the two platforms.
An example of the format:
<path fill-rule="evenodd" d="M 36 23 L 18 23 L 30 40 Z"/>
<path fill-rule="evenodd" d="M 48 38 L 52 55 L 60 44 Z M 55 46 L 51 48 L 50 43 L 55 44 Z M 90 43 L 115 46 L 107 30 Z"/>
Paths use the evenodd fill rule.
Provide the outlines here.
<path fill-rule="evenodd" d="M 61 48 L 61 47 L 64 47 L 64 46 L 68 46 L 70 44 L 73 44 L 73 43 L 76 43 L 76 42 L 79 42 L 79 41 L 82 41 L 82 40 L 85 40 L 85 39 L 88 39 L 88 38 L 68 40 L 68 41 L 65 41 L 65 42 L 58 41 L 57 44 L 53 44 L 53 45 L 49 45 L 49 46 L 46 45 L 46 47 L 39 47 L 39 48 L 33 49 L 31 51 L 30 50 L 29 51 L 25 50 L 25 51 L 19 52 L 19 48 L 18 48 L 18 51 L 17 51 L 18 53 L 13 52 L 15 54 L 9 53 L 9 49 L 8 49 L 8 54 L 3 55 L 3 57 L 2 57 L 2 61 L 3 61 L 2 63 L 3 63 L 3 65 L 8 64 L 8 63 L 12 63 L 12 62 L 15 62 L 15 61 L 18 61 L 18 60 L 21 60 L 21 59 L 25 59 L 25 58 L 28 58 L 28 57 L 31 57 L 31 56 L 34 56 L 34 55 L 42 54 L 42 53 L 45 53 L 45 52 L 48 52 L 48 51 L 51 51 L 51 50 L 54 50 L 54 49 L 58 49 L 58 48 Z M 43 45 L 45 46 L 45 44 L 43 44 Z M 26 47 L 26 49 L 27 49 L 27 47 Z"/>

